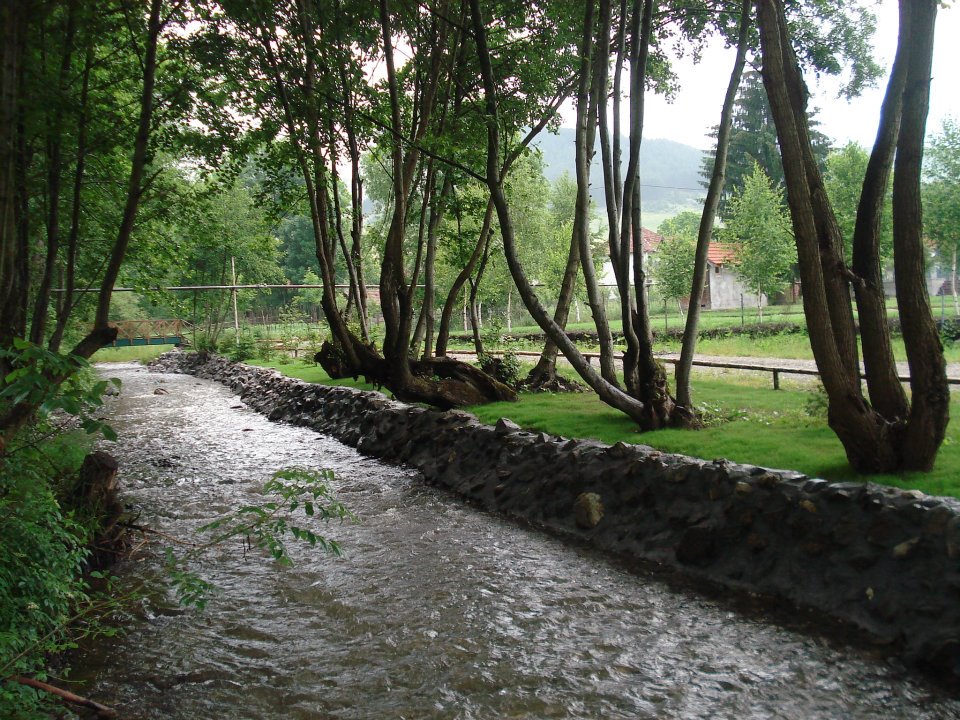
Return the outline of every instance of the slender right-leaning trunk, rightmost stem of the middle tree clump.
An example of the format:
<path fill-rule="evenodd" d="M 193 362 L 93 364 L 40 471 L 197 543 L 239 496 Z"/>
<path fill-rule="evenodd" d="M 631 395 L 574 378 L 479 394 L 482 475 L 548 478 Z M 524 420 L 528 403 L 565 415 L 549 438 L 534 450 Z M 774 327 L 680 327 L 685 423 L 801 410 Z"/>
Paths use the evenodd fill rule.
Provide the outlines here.
<path fill-rule="evenodd" d="M 737 57 L 727 83 L 727 94 L 723 99 L 720 112 L 720 126 L 717 128 L 717 152 L 713 158 L 713 172 L 710 185 L 703 201 L 703 213 L 700 216 L 700 228 L 697 231 L 697 248 L 693 260 L 693 282 L 690 288 L 690 305 L 687 308 L 687 320 L 683 327 L 683 341 L 680 345 L 680 360 L 676 366 L 677 405 L 685 412 L 693 414 L 693 392 L 690 375 L 693 370 L 693 357 L 697 349 L 700 333 L 700 298 L 707 280 L 707 254 L 713 237 L 713 224 L 720 207 L 720 196 L 727 175 L 727 151 L 730 148 L 730 131 L 733 126 L 733 108 L 737 99 L 737 89 L 747 62 L 747 47 L 750 38 L 750 9 L 752 0 L 743 0 L 740 7 L 740 29 L 737 36 Z"/>

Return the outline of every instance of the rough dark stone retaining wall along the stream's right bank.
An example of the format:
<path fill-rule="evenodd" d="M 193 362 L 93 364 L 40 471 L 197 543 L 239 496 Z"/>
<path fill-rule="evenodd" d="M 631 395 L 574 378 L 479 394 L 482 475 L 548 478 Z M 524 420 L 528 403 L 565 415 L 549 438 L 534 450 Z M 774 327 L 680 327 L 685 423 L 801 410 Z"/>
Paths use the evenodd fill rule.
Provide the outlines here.
<path fill-rule="evenodd" d="M 495 427 L 222 357 L 154 369 L 228 385 L 271 420 L 417 468 L 481 506 L 720 587 L 785 599 L 960 679 L 960 502 L 872 483 Z"/>

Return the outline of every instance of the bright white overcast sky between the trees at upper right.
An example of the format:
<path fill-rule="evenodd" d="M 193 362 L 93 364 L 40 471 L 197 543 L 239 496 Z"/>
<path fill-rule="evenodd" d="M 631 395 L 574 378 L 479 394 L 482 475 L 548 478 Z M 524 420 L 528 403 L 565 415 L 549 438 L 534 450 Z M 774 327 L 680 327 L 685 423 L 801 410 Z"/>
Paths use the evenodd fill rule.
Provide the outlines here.
<path fill-rule="evenodd" d="M 897 44 L 896 0 L 884 0 L 876 12 L 876 57 L 886 72 L 893 61 Z M 934 48 L 928 135 L 939 130 L 945 117 L 960 119 L 960 6 L 955 5 L 937 14 Z M 717 43 L 704 52 L 697 65 L 689 59 L 677 61 L 677 74 L 683 87 L 673 103 L 667 103 L 659 96 L 648 95 L 644 137 L 667 138 L 703 149 L 711 147 L 713 141 L 707 133 L 720 119 L 720 106 L 733 59 L 734 49 L 724 48 L 722 43 Z M 836 145 L 843 145 L 848 140 L 865 147 L 873 144 L 885 77 L 878 82 L 878 87 L 867 90 L 849 103 L 837 99 L 836 81 L 825 79 L 817 83 L 811 76 L 807 78 L 807 83 L 813 93 L 810 105 L 819 109 L 817 117 L 823 133 L 832 138 Z"/>

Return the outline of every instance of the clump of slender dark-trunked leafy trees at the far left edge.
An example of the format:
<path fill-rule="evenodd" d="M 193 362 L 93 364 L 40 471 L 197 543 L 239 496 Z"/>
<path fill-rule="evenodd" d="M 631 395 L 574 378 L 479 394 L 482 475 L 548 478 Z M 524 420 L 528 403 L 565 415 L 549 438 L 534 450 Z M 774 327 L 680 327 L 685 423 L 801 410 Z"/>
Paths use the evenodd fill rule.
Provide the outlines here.
<path fill-rule="evenodd" d="M 125 168 L 121 173 L 125 177 L 116 224 L 111 228 L 112 237 L 98 246 L 96 264 L 99 270 L 94 282 L 99 289 L 93 328 L 72 350 L 73 355 L 87 358 L 116 337 L 116 329 L 108 322 L 110 301 L 143 198 L 159 175 L 156 169 L 152 169 L 158 115 L 173 120 L 176 111 L 183 107 L 179 99 L 182 83 L 175 81 L 172 86 L 164 88 L 170 93 L 165 105 L 160 105 L 156 97 L 161 35 L 169 24 L 182 21 L 182 14 L 177 4 L 167 6 L 163 0 L 151 0 L 146 8 L 125 3 L 105 3 L 97 8 L 75 2 L 7 3 L 3 13 L 4 44 L 0 51 L 4 58 L 0 91 L 0 119 L 3 120 L 3 129 L 0 130 L 0 347 L 10 350 L 15 339 L 28 336 L 30 305 L 33 307 L 33 322 L 29 337 L 38 343 L 45 339 L 50 296 L 60 260 L 61 204 L 73 205 L 69 214 L 66 253 L 71 281 L 77 257 L 81 233 L 79 206 L 86 197 L 84 161 L 90 151 L 86 140 L 88 121 L 96 115 L 103 131 L 111 119 L 123 120 L 119 132 L 117 126 L 104 132 L 106 149 L 99 149 L 101 157 L 109 158 L 111 163 L 125 156 Z M 53 64 L 55 80 L 52 84 L 46 83 L 43 77 L 50 67 L 48 57 L 57 58 Z M 96 89 L 96 97 L 91 92 L 90 83 L 95 65 L 98 79 L 105 81 Z M 33 74 L 40 77 L 34 78 Z M 36 102 L 36 98 L 26 93 L 30 87 L 52 90 L 53 96 Z M 134 116 L 118 116 L 114 108 L 118 96 L 129 98 L 136 108 Z M 96 112 L 92 107 L 94 102 L 98 103 Z M 79 112 L 73 111 L 75 107 Z M 126 124 L 127 121 L 130 124 Z M 72 142 L 69 148 L 68 139 Z M 38 147 L 44 148 L 46 169 L 45 181 L 39 187 L 31 182 L 33 163 L 38 161 L 35 154 Z M 75 159 L 73 167 L 68 165 L 68 157 Z M 68 175 L 71 170 L 73 174 Z M 42 244 L 34 242 L 32 223 L 37 217 L 35 210 L 41 203 L 46 207 Z M 39 257 L 32 253 L 37 246 L 42 247 Z M 32 278 L 31 269 L 34 267 L 39 267 L 40 273 Z M 57 308 L 59 318 L 53 333 L 55 346 L 59 345 L 72 303 L 68 298 Z M 8 371 L 9 368 L 0 362 L 0 378 Z M 58 384 L 65 378 L 65 374 L 58 373 L 48 377 L 48 381 Z M 29 420 L 35 404 L 28 399 L 4 408 L 0 415 L 0 452 Z"/>

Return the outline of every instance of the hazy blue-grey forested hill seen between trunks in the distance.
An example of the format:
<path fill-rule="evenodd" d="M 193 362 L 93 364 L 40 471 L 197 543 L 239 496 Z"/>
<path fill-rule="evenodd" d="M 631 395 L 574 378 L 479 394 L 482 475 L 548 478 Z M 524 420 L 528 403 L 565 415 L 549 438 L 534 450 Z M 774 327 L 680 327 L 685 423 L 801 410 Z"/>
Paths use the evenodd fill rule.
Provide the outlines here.
<path fill-rule="evenodd" d="M 553 181 L 564 171 L 575 177 L 574 130 L 560 128 L 556 133 L 543 132 L 535 142 L 543 152 L 544 174 Z M 623 167 L 629 143 L 622 140 Z M 662 140 L 644 140 L 640 146 L 640 182 L 643 209 L 649 212 L 668 212 L 684 208 L 698 208 L 705 190 L 700 187 L 700 162 L 703 151 L 689 145 Z M 605 206 L 603 176 L 600 169 L 600 145 L 591 170 L 591 193 L 600 207 Z"/>

